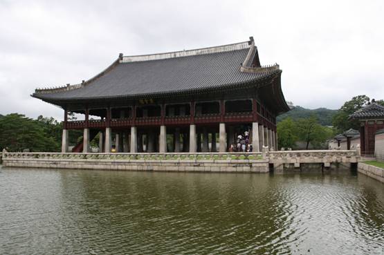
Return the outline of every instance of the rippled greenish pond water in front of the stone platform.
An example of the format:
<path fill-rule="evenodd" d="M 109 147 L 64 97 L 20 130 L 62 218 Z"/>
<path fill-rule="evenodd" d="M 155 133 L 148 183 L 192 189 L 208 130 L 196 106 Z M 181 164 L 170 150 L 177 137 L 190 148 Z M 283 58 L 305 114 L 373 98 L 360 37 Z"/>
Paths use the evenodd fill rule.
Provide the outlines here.
<path fill-rule="evenodd" d="M 382 254 L 384 185 L 331 173 L 0 169 L 0 254 Z"/>

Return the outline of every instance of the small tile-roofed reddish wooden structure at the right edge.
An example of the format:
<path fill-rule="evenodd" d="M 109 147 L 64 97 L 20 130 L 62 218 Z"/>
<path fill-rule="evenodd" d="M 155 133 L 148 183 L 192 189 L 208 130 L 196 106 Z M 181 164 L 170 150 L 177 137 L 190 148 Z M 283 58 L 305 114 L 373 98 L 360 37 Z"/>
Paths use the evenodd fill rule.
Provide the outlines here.
<path fill-rule="evenodd" d="M 384 106 L 372 100 L 367 106 L 349 115 L 349 119 L 360 122 L 361 155 L 373 157 L 375 154 L 376 131 L 384 129 Z"/>

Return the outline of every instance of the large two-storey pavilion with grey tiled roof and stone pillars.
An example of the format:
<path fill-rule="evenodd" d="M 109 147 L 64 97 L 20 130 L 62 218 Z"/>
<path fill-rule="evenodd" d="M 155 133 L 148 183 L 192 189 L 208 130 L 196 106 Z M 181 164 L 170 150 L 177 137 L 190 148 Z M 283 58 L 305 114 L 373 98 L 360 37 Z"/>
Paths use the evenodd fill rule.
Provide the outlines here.
<path fill-rule="evenodd" d="M 73 149 L 84 153 L 98 133 L 105 153 L 113 138 L 120 152 L 224 152 L 244 131 L 260 151 L 277 149 L 276 116 L 289 111 L 281 73 L 277 64 L 261 66 L 250 37 L 172 53 L 120 53 L 81 84 L 36 89 L 32 96 L 64 109 L 62 152 L 68 152 L 70 129 L 84 130 Z M 84 120 L 68 121 L 69 112 Z"/>

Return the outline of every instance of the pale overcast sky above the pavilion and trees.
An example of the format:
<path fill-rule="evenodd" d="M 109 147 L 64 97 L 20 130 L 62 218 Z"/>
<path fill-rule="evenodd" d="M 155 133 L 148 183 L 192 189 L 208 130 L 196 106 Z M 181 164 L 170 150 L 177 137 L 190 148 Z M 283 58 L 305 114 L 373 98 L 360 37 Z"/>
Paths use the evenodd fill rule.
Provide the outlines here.
<path fill-rule="evenodd" d="M 111 3 L 109 3 L 111 2 Z M 77 84 L 118 53 L 187 50 L 255 38 L 280 64 L 287 101 L 339 108 L 384 99 L 384 1 L 0 0 L 0 114 L 62 119 L 35 88 Z"/>

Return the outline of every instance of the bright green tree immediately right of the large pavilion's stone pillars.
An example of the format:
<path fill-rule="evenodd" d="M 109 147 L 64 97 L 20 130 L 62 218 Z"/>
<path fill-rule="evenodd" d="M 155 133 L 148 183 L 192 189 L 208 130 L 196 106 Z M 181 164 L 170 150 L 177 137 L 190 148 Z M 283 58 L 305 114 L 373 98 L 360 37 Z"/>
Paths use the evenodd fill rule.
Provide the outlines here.
<path fill-rule="evenodd" d="M 297 126 L 291 117 L 287 117 L 281 122 L 277 123 L 277 144 L 279 148 L 294 148 L 295 142 L 298 141 L 298 136 L 296 135 Z"/>

